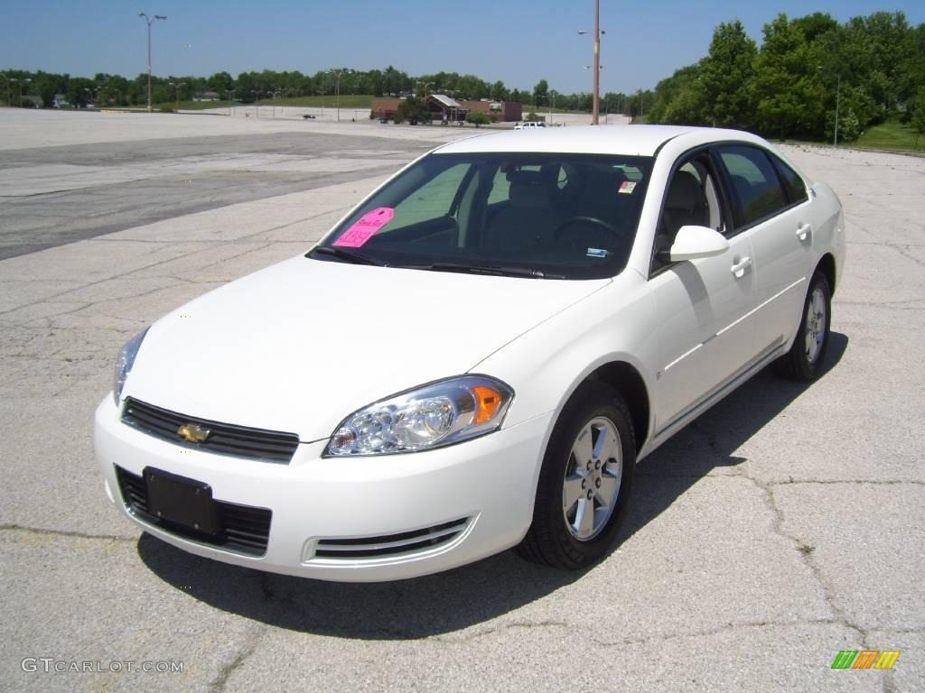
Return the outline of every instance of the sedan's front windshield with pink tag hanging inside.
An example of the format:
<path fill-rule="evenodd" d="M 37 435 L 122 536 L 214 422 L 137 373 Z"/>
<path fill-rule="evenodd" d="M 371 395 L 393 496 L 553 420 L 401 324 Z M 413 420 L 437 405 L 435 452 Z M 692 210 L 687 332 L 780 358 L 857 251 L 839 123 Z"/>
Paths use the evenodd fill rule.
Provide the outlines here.
<path fill-rule="evenodd" d="M 629 257 L 648 157 L 430 154 L 311 257 L 444 272 L 598 279 Z"/>

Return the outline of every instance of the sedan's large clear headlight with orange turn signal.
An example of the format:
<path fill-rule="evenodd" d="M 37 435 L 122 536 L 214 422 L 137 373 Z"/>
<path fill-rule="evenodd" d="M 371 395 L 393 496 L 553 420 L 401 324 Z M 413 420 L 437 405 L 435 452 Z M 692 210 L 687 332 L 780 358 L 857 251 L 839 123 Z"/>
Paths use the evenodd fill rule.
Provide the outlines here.
<path fill-rule="evenodd" d="M 383 399 L 341 423 L 327 455 L 389 455 L 459 443 L 496 431 L 513 391 L 481 375 L 465 375 Z"/>

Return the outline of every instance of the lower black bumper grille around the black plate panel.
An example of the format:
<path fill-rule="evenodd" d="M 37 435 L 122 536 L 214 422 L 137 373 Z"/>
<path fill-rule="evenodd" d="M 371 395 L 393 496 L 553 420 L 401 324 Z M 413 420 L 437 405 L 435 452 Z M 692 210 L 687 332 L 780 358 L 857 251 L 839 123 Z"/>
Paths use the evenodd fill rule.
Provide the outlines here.
<path fill-rule="evenodd" d="M 170 534 L 216 546 L 226 551 L 244 553 L 249 556 L 262 556 L 266 553 L 266 543 L 270 537 L 270 520 L 273 517 L 271 510 L 213 500 L 221 515 L 222 532 L 217 537 L 208 537 L 191 529 L 165 522 L 160 517 L 149 515 L 148 490 L 142 477 L 117 466 L 116 478 L 126 507 L 133 515 L 145 522 L 164 529 Z"/>

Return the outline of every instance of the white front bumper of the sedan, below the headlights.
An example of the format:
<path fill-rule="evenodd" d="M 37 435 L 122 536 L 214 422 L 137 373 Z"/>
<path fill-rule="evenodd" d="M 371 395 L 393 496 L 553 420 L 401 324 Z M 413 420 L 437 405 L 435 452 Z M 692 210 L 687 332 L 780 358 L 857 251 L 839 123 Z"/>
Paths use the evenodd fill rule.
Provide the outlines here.
<path fill-rule="evenodd" d="M 109 498 L 154 536 L 190 553 L 299 577 L 366 582 L 418 577 L 517 544 L 533 516 L 552 414 L 449 447 L 406 455 L 322 457 L 300 444 L 288 465 L 216 455 L 96 410 L 96 456 Z M 157 468 L 212 487 L 225 504 L 272 512 L 265 553 L 248 555 L 160 527 L 123 498 L 117 468 Z"/>

